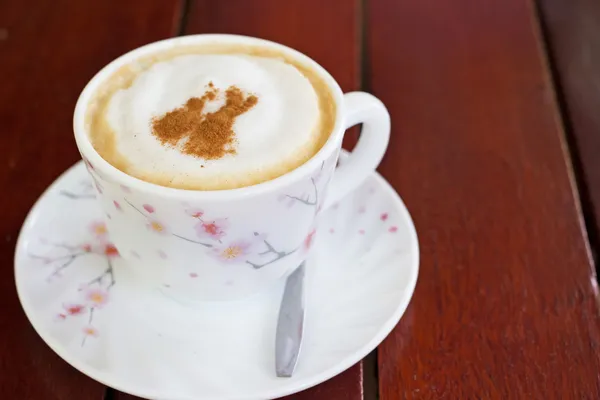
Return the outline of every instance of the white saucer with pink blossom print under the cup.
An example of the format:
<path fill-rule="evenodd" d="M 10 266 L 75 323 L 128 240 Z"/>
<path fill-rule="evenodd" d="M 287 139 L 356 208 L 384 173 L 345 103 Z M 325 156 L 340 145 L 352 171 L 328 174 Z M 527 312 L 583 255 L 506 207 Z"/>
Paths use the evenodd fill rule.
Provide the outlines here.
<path fill-rule="evenodd" d="M 15 253 L 29 321 L 60 357 L 122 392 L 160 400 L 267 399 L 351 367 L 394 328 L 418 274 L 417 235 L 379 175 L 324 212 L 306 271 L 302 352 L 275 376 L 284 282 L 244 301 L 176 303 L 142 290 L 110 242 L 82 162 L 41 196 Z M 201 279 L 190 276 L 190 279 Z"/>

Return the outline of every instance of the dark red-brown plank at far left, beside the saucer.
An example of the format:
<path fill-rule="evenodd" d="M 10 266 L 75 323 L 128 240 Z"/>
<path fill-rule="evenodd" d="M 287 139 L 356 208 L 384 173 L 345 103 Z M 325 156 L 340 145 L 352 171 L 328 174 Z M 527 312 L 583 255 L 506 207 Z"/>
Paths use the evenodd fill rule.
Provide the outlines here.
<path fill-rule="evenodd" d="M 175 32 L 179 2 L 0 2 L 0 398 L 102 399 L 35 334 L 10 271 L 19 229 L 42 191 L 79 159 L 72 131 L 85 83 L 119 54 Z"/>

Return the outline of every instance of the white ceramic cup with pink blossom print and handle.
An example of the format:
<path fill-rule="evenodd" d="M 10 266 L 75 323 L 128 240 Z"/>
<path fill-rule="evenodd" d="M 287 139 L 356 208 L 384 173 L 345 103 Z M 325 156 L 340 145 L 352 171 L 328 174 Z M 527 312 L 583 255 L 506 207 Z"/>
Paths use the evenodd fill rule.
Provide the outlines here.
<path fill-rule="evenodd" d="M 316 71 L 337 105 L 335 127 L 300 167 L 239 189 L 174 189 L 142 181 L 106 162 L 85 125 L 90 99 L 120 67 L 177 46 L 209 43 L 273 48 Z M 336 169 L 344 131 L 363 124 L 354 151 Z M 234 35 L 194 35 L 152 43 L 108 64 L 81 93 L 74 115 L 77 147 L 92 176 L 112 241 L 134 282 L 186 302 L 234 300 L 290 274 L 309 255 L 319 213 L 359 186 L 387 148 L 390 118 L 367 93 L 343 94 L 316 62 L 273 42 Z"/>

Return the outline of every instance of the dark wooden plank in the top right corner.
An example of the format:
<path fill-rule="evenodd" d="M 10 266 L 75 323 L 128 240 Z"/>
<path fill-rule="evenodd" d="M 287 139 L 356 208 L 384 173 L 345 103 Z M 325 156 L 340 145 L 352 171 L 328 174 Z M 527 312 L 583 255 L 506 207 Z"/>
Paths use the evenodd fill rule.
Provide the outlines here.
<path fill-rule="evenodd" d="M 600 248 L 600 3 L 538 0 L 576 156 L 590 241 Z"/>

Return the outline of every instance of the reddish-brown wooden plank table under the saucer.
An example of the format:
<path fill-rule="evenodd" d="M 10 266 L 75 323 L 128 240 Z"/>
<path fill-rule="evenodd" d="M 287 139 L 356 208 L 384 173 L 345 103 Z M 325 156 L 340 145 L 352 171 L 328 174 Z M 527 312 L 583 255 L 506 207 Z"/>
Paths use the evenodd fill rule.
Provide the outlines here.
<path fill-rule="evenodd" d="M 376 354 L 290 398 L 600 398 L 599 26 L 593 0 L 0 0 L 0 398 L 131 399 L 35 334 L 13 249 L 79 158 L 91 76 L 206 32 L 295 47 L 392 115 L 379 171 L 419 233 L 414 298 Z"/>

